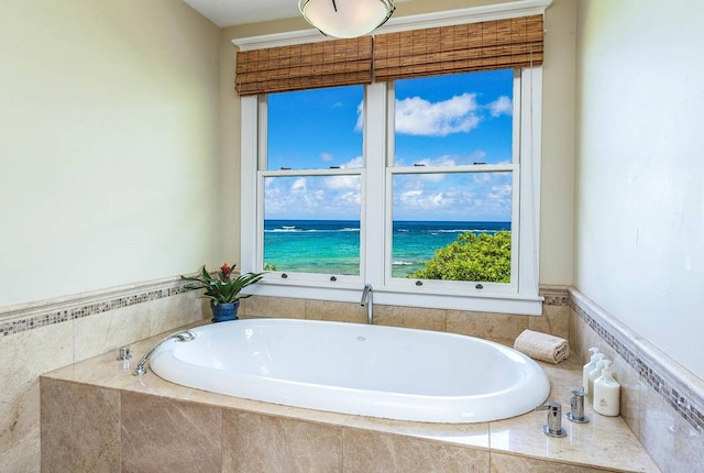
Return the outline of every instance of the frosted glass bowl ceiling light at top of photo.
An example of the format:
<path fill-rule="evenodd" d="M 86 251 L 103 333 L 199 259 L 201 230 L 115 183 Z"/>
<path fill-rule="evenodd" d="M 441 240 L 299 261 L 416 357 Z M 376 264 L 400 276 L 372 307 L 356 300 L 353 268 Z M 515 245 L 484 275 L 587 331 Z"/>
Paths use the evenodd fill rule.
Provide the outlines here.
<path fill-rule="evenodd" d="M 298 0 L 306 21 L 334 37 L 363 36 L 386 23 L 394 0 Z"/>

